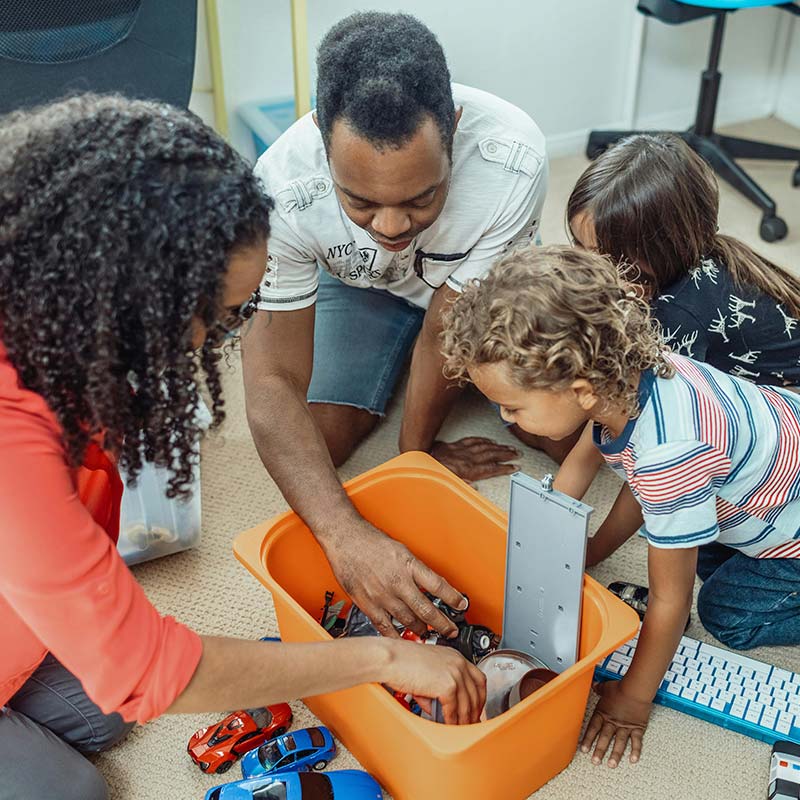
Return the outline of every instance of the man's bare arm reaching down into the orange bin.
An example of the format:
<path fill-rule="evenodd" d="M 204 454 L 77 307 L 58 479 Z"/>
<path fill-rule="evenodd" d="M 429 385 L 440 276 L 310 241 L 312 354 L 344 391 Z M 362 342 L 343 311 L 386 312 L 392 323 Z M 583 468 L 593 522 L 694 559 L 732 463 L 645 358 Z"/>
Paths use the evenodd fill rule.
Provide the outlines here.
<path fill-rule="evenodd" d="M 314 309 L 259 311 L 242 338 L 247 419 L 256 449 L 289 505 L 325 552 L 342 588 L 378 630 L 392 617 L 422 633 L 455 625 L 420 591 L 459 608 L 463 597 L 411 551 L 370 525 L 342 489 L 306 392 L 313 367 Z"/>

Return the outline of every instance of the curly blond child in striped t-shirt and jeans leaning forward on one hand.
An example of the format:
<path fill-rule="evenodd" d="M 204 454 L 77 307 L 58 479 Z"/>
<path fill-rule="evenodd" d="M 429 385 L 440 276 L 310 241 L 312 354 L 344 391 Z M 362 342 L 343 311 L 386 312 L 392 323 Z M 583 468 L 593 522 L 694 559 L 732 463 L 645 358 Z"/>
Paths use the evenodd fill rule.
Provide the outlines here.
<path fill-rule="evenodd" d="M 700 619 L 724 644 L 800 644 L 800 396 L 669 353 L 617 266 L 568 247 L 500 259 L 456 299 L 443 346 L 448 374 L 508 422 L 555 440 L 584 430 L 644 517 L 649 606 L 627 674 L 600 688 L 582 742 L 595 763 L 612 741 L 610 766 L 629 740 L 639 759 L 695 572 Z M 559 477 L 592 472 L 584 453 Z"/>

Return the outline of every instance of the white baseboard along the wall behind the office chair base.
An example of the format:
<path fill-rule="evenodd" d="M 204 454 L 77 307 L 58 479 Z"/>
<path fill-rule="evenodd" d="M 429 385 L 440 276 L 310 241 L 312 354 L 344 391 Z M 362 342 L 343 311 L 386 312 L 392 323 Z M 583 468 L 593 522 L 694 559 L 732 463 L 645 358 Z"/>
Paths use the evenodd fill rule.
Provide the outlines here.
<path fill-rule="evenodd" d="M 792 109 L 790 109 L 790 112 Z M 796 109 L 798 120 L 793 120 L 790 116 L 781 114 L 782 118 L 792 125 L 800 127 L 800 107 Z M 749 119 L 759 119 L 768 117 L 774 112 L 769 99 L 754 100 L 752 102 L 739 102 L 720 105 L 717 109 L 717 125 L 734 125 L 737 122 L 744 122 Z M 644 131 L 680 131 L 688 128 L 694 121 L 696 110 L 693 106 L 666 111 L 662 114 L 654 114 L 637 120 L 636 127 Z M 793 116 L 793 115 L 792 115 Z M 573 156 L 582 154 L 586 149 L 586 142 L 591 130 L 625 130 L 626 125 L 622 122 L 610 122 L 597 125 L 595 128 L 584 128 L 566 133 L 557 133 L 547 137 L 547 153 L 550 158 L 561 158 L 562 156 Z"/>

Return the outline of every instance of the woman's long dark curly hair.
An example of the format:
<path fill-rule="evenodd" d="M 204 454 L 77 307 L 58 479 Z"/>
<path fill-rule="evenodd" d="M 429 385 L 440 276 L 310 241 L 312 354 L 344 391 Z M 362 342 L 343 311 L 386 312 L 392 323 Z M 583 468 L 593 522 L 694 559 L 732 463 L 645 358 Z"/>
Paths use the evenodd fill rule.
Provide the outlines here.
<path fill-rule="evenodd" d="M 81 95 L 0 119 L 0 342 L 55 413 L 70 463 L 102 434 L 131 479 L 169 467 L 185 496 L 198 377 L 218 371 L 232 252 L 266 240 L 248 164 L 187 111 Z M 210 335 L 192 352 L 193 317 Z"/>

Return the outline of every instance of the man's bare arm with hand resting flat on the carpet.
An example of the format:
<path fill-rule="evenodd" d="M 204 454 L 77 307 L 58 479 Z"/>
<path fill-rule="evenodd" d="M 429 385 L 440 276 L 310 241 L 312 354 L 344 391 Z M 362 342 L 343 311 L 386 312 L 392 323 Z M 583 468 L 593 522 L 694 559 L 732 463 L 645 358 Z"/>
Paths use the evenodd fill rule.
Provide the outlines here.
<path fill-rule="evenodd" d="M 442 313 L 458 292 L 442 286 L 434 292 L 411 357 L 400 452 L 423 450 L 468 481 L 509 475 L 519 467 L 506 462 L 518 458 L 513 447 L 489 439 L 469 437 L 457 442 L 436 441 L 436 435 L 458 399 L 461 389 L 445 378 L 441 353 Z"/>

